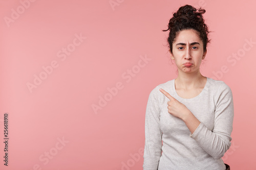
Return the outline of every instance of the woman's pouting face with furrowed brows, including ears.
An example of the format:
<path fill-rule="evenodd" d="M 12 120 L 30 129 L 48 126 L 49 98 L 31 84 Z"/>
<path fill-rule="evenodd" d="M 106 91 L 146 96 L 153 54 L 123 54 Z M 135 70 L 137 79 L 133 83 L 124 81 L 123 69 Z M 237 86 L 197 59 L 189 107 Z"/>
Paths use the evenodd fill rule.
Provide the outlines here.
<path fill-rule="evenodd" d="M 203 50 L 203 41 L 195 30 L 183 30 L 178 33 L 173 42 L 173 54 L 170 56 L 180 71 L 191 73 L 199 71 L 202 59 L 206 52 Z"/>

